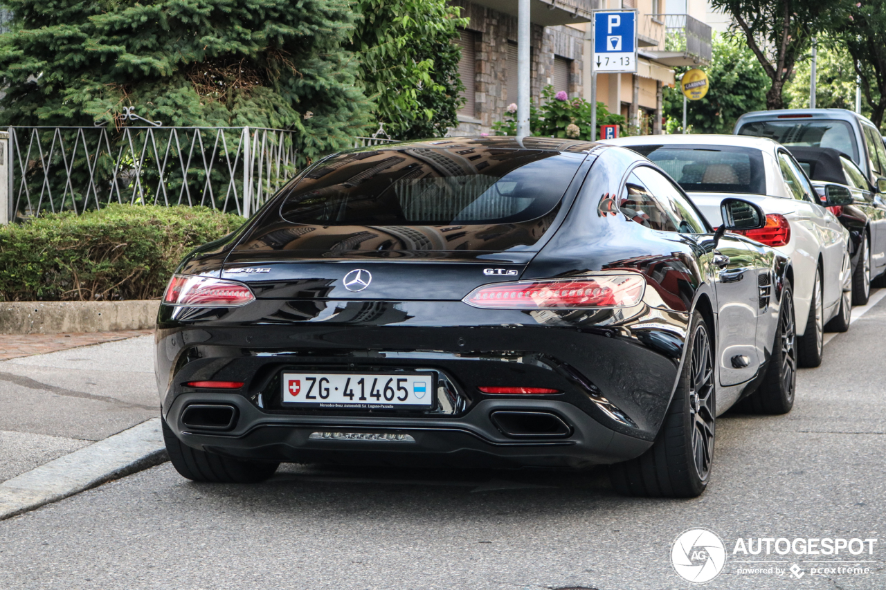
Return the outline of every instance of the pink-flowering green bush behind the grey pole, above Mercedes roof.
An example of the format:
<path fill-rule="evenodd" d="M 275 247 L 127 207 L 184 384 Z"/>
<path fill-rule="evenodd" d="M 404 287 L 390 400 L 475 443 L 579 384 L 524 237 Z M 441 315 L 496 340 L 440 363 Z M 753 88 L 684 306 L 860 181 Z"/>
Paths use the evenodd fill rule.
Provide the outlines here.
<path fill-rule="evenodd" d="M 546 86 L 541 91 L 543 103 L 536 107 L 530 103 L 529 128 L 533 136 L 561 137 L 563 139 L 591 139 L 591 117 L 593 108 L 584 98 L 565 98 L 565 92 L 557 98 L 553 86 Z M 501 121 L 493 123 L 496 136 L 517 135 L 517 105 L 505 113 Z M 611 114 L 603 103 L 597 103 L 597 125 L 621 125 L 624 128 L 625 118 Z M 599 137 L 599 129 L 597 130 Z"/>

